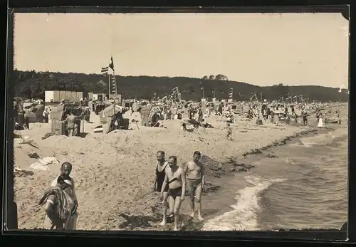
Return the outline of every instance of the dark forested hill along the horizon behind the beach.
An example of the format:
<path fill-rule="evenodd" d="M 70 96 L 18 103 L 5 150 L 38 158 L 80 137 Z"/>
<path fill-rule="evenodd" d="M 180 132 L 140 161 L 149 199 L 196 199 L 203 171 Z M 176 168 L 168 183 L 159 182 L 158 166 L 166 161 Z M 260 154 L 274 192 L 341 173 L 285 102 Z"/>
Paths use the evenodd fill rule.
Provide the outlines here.
<path fill-rule="evenodd" d="M 178 86 L 184 100 L 196 100 L 202 97 L 201 85 L 204 86 L 204 97 L 228 98 L 229 88 L 234 90 L 235 100 L 248 100 L 256 93 L 257 97 L 278 100 L 286 95 L 303 95 L 309 100 L 323 102 L 347 102 L 346 90 L 338 93 L 337 88 L 321 86 L 285 86 L 273 85 L 259 87 L 231 80 L 211 80 L 210 78 L 185 77 L 152 77 L 152 76 L 116 76 L 118 92 L 124 98 L 152 98 L 169 95 L 172 88 Z M 102 80 L 106 83 L 99 83 Z M 288 82 L 286 82 L 288 83 Z M 23 98 L 43 98 L 46 90 L 73 90 L 93 93 L 108 93 L 108 77 L 98 74 L 53 73 L 15 70 L 11 74 L 9 86 L 14 86 L 15 96 Z"/>

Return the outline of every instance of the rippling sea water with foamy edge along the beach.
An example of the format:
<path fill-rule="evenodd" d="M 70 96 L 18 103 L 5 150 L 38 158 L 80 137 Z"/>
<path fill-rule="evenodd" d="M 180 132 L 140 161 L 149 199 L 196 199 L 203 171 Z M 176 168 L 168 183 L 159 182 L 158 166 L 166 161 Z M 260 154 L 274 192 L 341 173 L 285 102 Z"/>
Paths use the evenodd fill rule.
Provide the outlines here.
<path fill-rule="evenodd" d="M 256 157 L 231 210 L 207 220 L 202 230 L 340 228 L 347 221 L 347 127 L 268 152 L 277 157 Z"/>

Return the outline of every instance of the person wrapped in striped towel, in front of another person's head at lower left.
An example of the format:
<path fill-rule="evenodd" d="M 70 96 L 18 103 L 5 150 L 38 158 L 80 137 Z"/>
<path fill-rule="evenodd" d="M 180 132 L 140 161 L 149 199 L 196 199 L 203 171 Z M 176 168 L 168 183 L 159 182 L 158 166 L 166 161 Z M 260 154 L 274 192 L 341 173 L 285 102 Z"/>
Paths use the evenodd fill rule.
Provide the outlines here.
<path fill-rule="evenodd" d="M 46 218 L 43 228 L 52 230 L 75 230 L 76 208 L 73 196 L 72 182 L 66 176 L 58 177 L 55 186 L 44 191 L 39 201 L 39 206 L 44 206 Z"/>

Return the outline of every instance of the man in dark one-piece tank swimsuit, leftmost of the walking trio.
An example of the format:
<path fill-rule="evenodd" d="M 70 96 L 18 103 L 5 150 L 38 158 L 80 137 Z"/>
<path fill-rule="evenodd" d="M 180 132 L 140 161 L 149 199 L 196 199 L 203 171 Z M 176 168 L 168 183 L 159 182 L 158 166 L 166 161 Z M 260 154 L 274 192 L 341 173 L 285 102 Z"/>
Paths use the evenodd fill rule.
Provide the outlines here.
<path fill-rule="evenodd" d="M 164 152 L 163 151 L 158 151 L 157 152 L 157 164 L 156 164 L 156 169 L 155 169 L 155 174 L 154 174 L 154 183 L 153 183 L 153 190 L 162 192 L 163 191 L 163 201 L 164 205 L 163 206 L 163 220 L 161 222 L 161 226 L 164 226 L 167 223 L 167 197 L 168 197 L 168 186 L 162 188 L 163 182 L 164 182 L 164 177 L 166 177 L 166 173 L 164 172 L 164 169 L 166 169 L 168 162 L 164 159 Z"/>

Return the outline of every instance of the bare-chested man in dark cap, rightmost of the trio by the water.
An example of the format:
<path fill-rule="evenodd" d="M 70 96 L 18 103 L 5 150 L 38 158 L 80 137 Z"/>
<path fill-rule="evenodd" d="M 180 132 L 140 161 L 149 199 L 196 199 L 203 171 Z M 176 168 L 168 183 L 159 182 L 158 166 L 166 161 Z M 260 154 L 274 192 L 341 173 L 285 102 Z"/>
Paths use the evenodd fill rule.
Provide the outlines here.
<path fill-rule="evenodd" d="M 195 151 L 193 154 L 193 160 L 185 164 L 184 173 L 187 176 L 187 188 L 190 197 L 189 205 L 190 209 L 192 209 L 192 214 L 190 216 L 194 218 L 195 199 L 197 199 L 198 219 L 199 221 L 204 221 L 204 219 L 201 217 L 201 194 L 204 189 L 205 179 L 204 166 L 199 162 L 200 157 L 200 152 Z"/>

